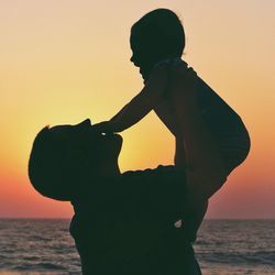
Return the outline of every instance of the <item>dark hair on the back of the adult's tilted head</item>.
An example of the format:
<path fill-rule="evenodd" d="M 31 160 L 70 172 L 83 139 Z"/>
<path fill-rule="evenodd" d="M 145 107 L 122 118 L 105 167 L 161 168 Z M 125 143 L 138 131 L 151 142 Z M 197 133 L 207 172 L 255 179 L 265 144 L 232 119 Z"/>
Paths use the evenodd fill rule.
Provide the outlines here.
<path fill-rule="evenodd" d="M 43 196 L 70 200 L 77 170 L 67 153 L 63 142 L 53 135 L 48 127 L 36 135 L 29 160 L 29 177 Z"/>

